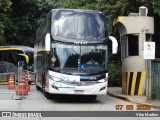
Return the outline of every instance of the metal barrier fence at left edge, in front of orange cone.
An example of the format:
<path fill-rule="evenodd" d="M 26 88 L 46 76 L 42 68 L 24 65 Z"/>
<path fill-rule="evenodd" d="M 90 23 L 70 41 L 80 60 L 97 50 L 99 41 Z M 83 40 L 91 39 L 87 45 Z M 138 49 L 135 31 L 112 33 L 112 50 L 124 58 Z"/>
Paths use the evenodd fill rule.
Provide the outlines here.
<path fill-rule="evenodd" d="M 10 73 L 0 73 L 0 99 L 13 99 L 13 95 L 16 90 L 16 75 L 13 72 Z M 6 96 L 10 94 L 10 96 Z"/>

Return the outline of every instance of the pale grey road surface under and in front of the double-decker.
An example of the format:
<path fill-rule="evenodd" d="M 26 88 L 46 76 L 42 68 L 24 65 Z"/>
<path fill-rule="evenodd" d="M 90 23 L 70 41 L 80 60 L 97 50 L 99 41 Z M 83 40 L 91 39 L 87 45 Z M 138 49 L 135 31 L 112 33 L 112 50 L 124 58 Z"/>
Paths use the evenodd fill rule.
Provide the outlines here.
<path fill-rule="evenodd" d="M 82 96 L 59 96 L 47 99 L 41 91 L 37 91 L 35 85 L 30 85 L 27 96 L 13 94 L 0 94 L 0 110 L 40 110 L 40 111 L 114 111 L 116 105 L 135 105 L 109 95 L 98 96 L 95 101 Z M 136 106 L 136 105 L 135 105 Z"/>

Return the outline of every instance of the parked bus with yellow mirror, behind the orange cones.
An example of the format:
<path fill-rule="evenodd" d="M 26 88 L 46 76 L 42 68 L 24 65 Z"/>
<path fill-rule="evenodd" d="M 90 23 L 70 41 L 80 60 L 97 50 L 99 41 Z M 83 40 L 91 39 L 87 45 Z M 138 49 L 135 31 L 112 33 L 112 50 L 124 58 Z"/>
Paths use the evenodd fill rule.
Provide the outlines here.
<path fill-rule="evenodd" d="M 15 67 L 17 67 L 18 71 L 18 62 L 22 58 L 25 59 L 23 64 L 24 71 L 28 72 L 28 81 L 29 84 L 31 82 L 34 82 L 34 74 L 33 74 L 33 64 L 34 64 L 34 48 L 22 46 L 22 45 L 10 45 L 10 46 L 0 46 L 0 63 L 1 66 L 11 66 L 11 64 L 14 64 Z M 7 64 L 8 63 L 8 64 Z M 12 65 L 13 66 L 13 65 Z M 14 67 L 14 68 L 15 68 Z M 9 67 L 9 71 L 11 72 L 12 69 Z M 9 72 L 7 69 L 4 72 Z M 18 75 L 18 72 L 15 72 L 16 75 Z"/>

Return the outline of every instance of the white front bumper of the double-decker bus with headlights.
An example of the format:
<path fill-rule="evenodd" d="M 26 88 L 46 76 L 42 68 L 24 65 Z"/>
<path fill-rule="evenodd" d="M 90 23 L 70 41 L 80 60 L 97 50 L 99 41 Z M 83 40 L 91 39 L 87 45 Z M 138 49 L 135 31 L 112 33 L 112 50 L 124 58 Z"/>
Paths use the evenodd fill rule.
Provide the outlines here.
<path fill-rule="evenodd" d="M 107 93 L 107 85 L 108 81 L 96 83 L 93 85 L 73 86 L 49 80 L 49 86 L 46 90 L 51 94 L 105 95 Z"/>

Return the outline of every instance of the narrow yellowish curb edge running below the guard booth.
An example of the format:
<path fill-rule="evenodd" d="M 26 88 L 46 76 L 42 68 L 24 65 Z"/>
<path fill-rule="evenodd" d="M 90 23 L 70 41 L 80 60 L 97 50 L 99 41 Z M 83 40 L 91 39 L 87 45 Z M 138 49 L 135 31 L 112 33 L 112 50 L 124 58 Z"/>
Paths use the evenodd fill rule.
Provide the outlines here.
<path fill-rule="evenodd" d="M 134 100 L 132 100 L 132 99 L 130 99 L 130 98 L 127 98 L 127 97 L 124 97 L 124 96 L 120 96 L 120 95 L 117 95 L 117 94 L 113 94 L 113 93 L 111 93 L 111 92 L 107 92 L 107 94 L 108 94 L 109 96 L 112 96 L 112 97 L 115 97 L 115 98 L 118 98 L 118 99 L 121 99 L 121 100 L 124 100 L 124 101 L 132 102 L 132 103 L 135 103 L 135 104 L 150 105 L 150 106 L 152 106 L 152 108 L 154 108 L 154 109 L 160 109 L 160 105 L 154 105 L 154 104 L 149 104 L 149 103 L 135 102 Z"/>

